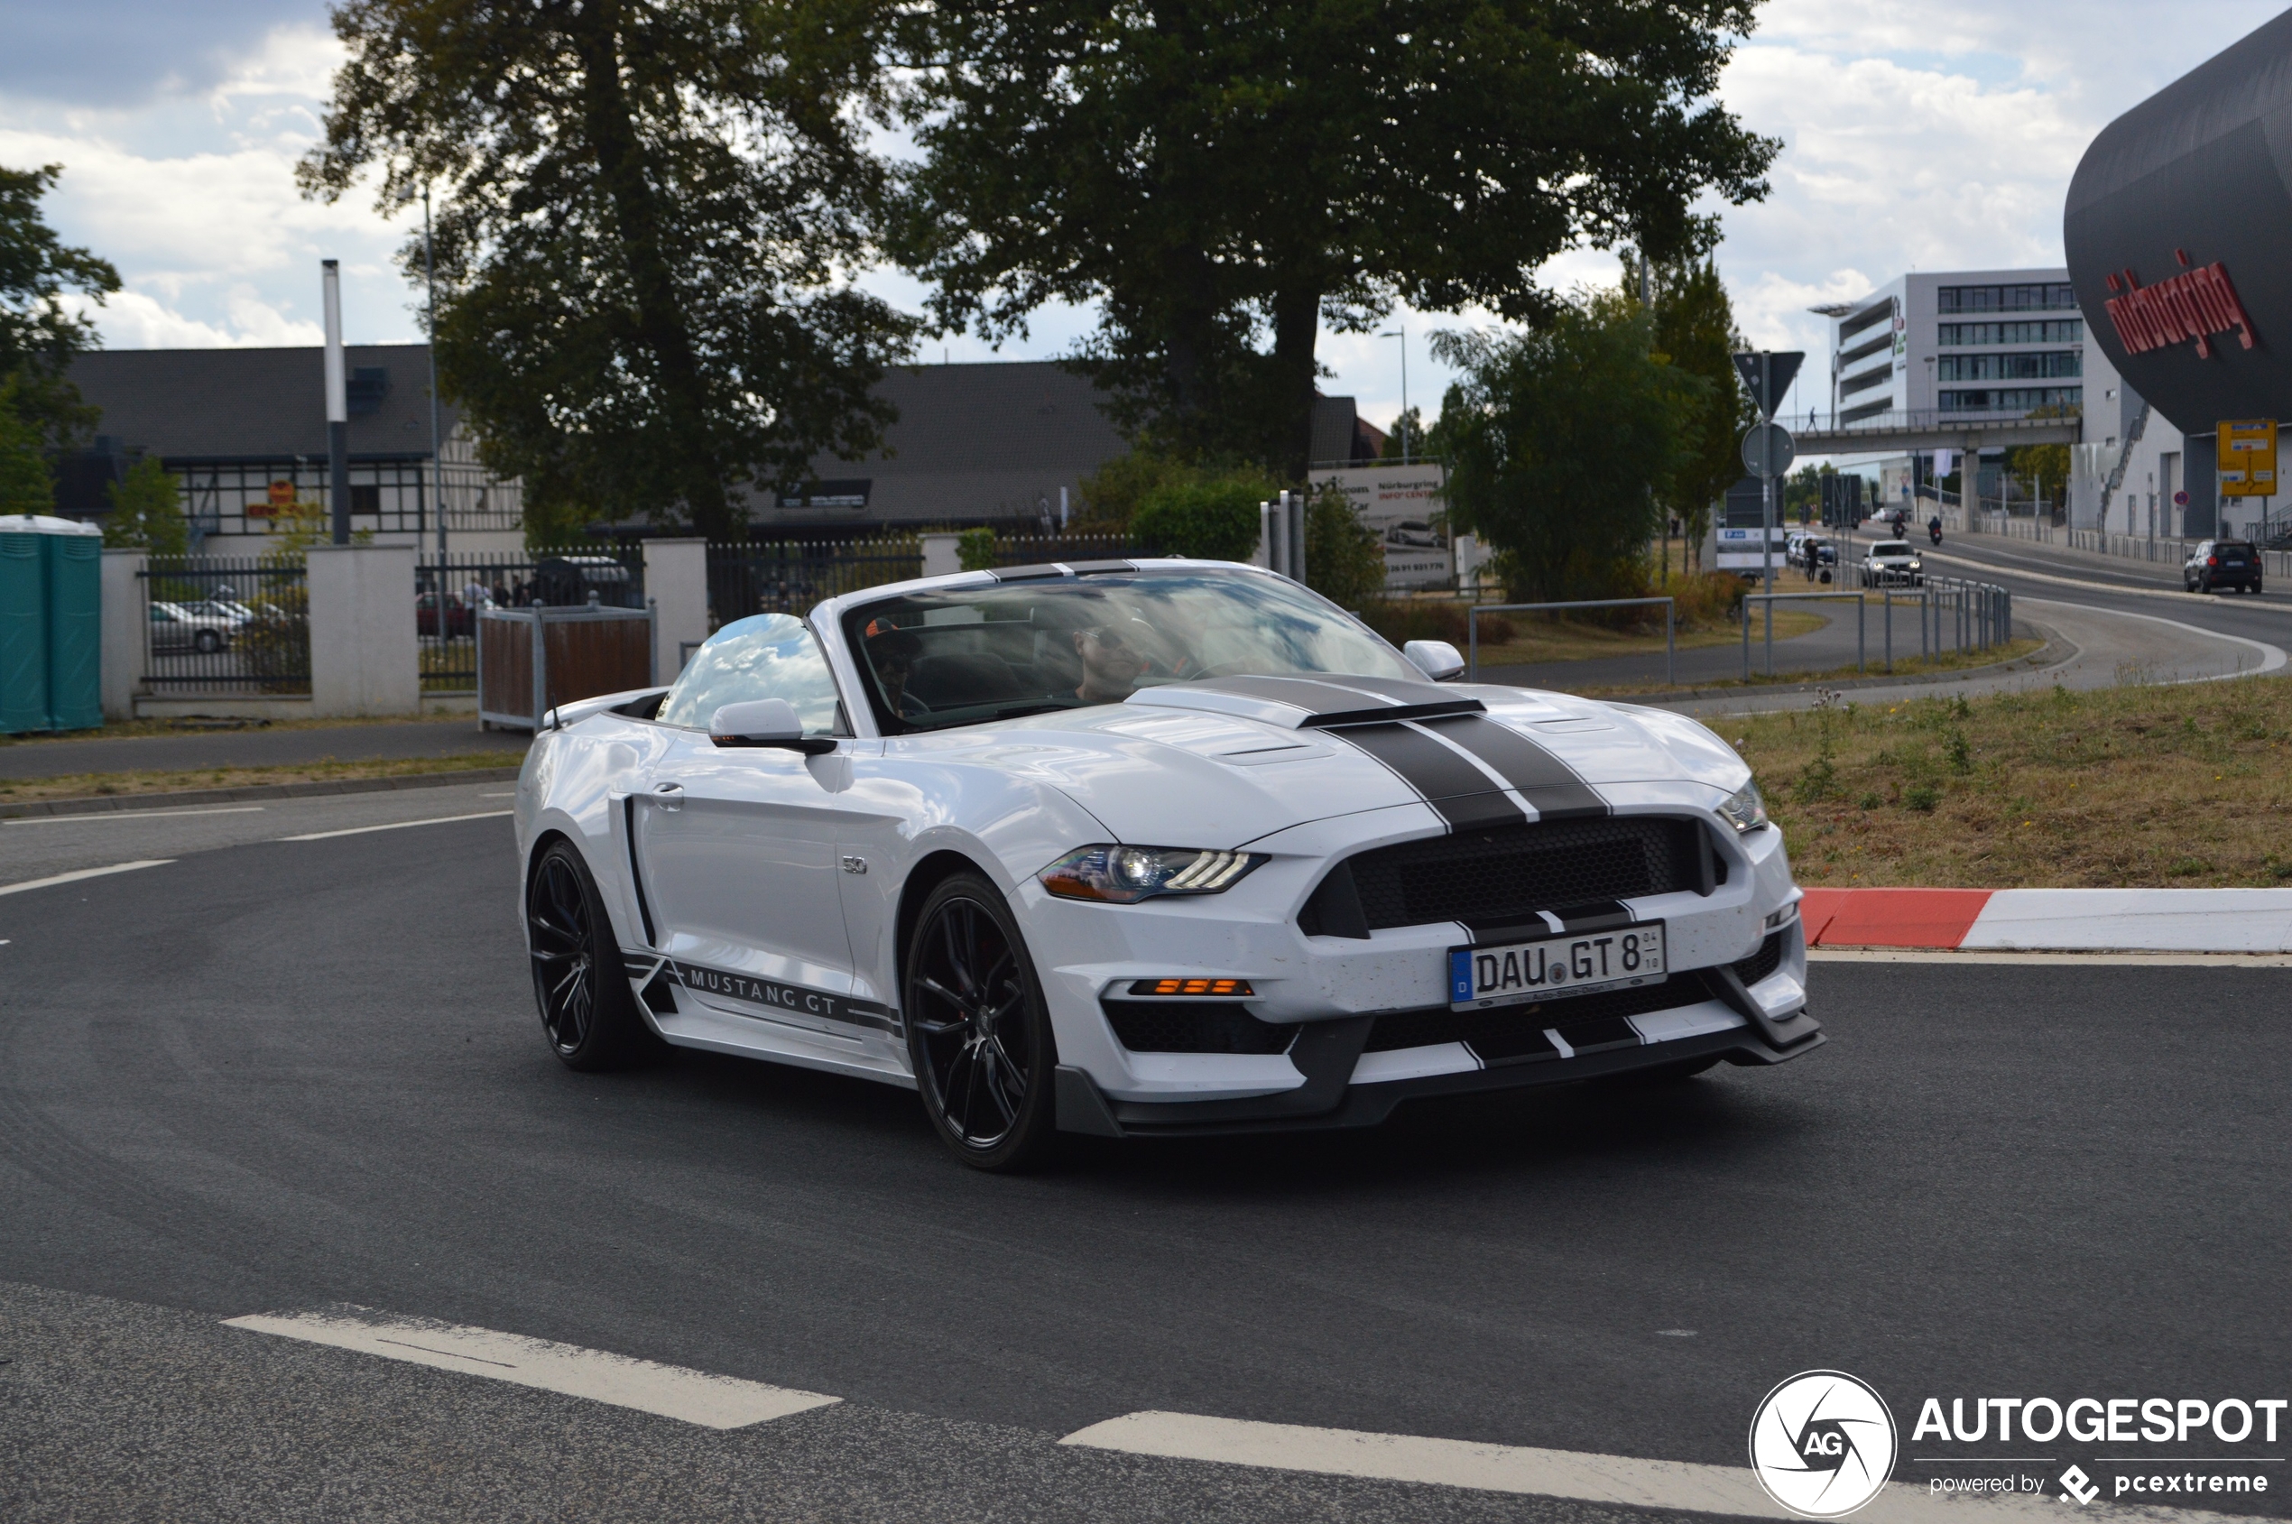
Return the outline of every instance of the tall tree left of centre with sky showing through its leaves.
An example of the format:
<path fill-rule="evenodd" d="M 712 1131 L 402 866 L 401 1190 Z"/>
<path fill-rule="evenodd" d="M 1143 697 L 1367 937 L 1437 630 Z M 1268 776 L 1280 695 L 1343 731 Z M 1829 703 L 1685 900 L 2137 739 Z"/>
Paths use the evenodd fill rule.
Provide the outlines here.
<path fill-rule="evenodd" d="M 864 456 L 912 321 L 857 291 L 864 7 L 348 0 L 307 195 L 438 195 L 438 374 L 543 516 L 740 532 L 736 488 Z M 401 254 L 422 273 L 422 241 Z"/>

